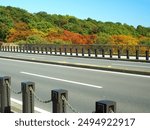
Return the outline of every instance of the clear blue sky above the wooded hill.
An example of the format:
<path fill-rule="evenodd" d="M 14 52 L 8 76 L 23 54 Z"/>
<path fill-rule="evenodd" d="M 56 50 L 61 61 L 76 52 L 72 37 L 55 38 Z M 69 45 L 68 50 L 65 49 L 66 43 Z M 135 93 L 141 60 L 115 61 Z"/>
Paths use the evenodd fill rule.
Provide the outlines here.
<path fill-rule="evenodd" d="M 0 0 L 0 5 L 150 27 L 150 0 Z"/>

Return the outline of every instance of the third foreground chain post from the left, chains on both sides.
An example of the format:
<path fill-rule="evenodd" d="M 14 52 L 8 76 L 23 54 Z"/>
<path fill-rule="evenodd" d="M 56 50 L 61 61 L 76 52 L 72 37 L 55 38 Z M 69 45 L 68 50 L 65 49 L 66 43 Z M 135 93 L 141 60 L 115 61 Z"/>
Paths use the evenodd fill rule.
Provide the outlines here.
<path fill-rule="evenodd" d="M 66 103 L 62 99 L 62 96 L 64 96 L 66 100 L 68 100 L 68 91 L 63 89 L 55 89 L 51 91 L 53 113 L 66 112 Z"/>

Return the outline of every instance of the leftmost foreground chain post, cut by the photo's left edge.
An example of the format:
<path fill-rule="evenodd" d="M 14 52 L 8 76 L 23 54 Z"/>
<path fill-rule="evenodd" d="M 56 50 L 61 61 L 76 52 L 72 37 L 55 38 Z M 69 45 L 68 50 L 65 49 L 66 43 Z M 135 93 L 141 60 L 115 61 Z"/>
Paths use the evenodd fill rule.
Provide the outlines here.
<path fill-rule="evenodd" d="M 9 85 L 9 86 L 8 86 Z M 0 112 L 10 113 L 10 85 L 11 78 L 9 76 L 0 77 Z"/>

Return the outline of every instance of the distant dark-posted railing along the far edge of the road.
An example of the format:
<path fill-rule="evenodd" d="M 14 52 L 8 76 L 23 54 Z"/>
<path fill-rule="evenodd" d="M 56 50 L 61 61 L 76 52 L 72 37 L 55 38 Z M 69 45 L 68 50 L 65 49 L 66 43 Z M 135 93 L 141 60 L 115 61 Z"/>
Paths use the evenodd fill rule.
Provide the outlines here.
<path fill-rule="evenodd" d="M 126 45 L 16 45 L 0 46 L 0 51 L 105 59 L 149 60 L 150 46 Z"/>

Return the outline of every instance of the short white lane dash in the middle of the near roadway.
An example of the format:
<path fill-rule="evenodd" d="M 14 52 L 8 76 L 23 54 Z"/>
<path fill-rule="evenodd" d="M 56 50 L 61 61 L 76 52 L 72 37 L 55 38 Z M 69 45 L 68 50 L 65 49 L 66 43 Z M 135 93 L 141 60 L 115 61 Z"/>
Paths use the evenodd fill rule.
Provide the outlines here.
<path fill-rule="evenodd" d="M 52 80 L 61 81 L 61 82 L 66 82 L 66 83 L 88 86 L 88 87 L 92 87 L 92 88 L 103 88 L 102 86 L 81 83 L 81 82 L 76 82 L 76 81 L 72 81 L 72 80 L 60 79 L 60 78 L 55 78 L 55 77 L 49 77 L 49 76 L 44 76 L 44 75 L 40 75 L 40 74 L 33 74 L 33 73 L 29 73 L 29 72 L 20 72 L 20 73 L 26 74 L 26 75 L 31 75 L 31 76 L 36 76 L 36 77 L 41 77 L 41 78 L 46 78 L 46 79 L 52 79 Z"/>

